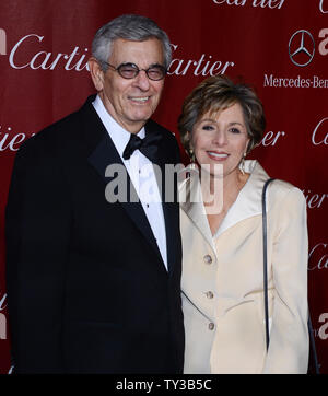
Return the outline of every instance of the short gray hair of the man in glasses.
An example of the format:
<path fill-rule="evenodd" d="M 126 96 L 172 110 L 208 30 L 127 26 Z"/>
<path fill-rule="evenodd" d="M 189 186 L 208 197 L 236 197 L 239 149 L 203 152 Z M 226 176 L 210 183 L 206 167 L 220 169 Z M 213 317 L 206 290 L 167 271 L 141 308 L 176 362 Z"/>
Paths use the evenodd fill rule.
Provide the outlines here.
<path fill-rule="evenodd" d="M 157 38 L 163 46 L 164 67 L 168 69 L 172 59 L 172 48 L 167 34 L 150 18 L 125 14 L 102 26 L 92 42 L 92 55 L 101 63 L 104 71 L 112 53 L 112 44 L 117 38 L 132 42 L 144 42 L 149 38 Z"/>

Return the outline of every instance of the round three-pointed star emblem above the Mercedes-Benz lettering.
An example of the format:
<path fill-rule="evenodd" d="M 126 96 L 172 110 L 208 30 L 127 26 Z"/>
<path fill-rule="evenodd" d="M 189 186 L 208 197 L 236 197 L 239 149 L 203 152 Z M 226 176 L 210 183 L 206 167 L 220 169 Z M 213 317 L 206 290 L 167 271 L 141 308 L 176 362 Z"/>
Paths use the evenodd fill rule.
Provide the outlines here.
<path fill-rule="evenodd" d="M 315 54 L 315 40 L 312 34 L 304 30 L 295 32 L 289 43 L 289 54 L 294 65 L 300 67 L 307 66 L 313 60 Z"/>

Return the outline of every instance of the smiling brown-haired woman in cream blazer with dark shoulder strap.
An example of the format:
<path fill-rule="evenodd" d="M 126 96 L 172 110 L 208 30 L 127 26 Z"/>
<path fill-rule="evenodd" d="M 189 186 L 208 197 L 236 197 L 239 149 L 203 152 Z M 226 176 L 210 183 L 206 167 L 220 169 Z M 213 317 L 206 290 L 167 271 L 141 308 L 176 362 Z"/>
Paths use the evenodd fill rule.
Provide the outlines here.
<path fill-rule="evenodd" d="M 245 161 L 265 125 L 255 92 L 225 77 L 198 85 L 179 116 L 183 144 L 198 164 L 179 188 L 185 373 L 307 371 L 306 203 L 278 179 L 267 190 L 266 349 L 261 194 L 269 176 Z"/>

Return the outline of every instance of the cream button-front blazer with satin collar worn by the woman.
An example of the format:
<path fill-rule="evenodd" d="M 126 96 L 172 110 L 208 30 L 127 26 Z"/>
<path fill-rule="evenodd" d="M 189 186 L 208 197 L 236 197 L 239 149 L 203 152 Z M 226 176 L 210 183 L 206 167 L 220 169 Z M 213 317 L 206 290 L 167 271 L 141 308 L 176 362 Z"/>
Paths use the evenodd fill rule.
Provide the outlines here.
<path fill-rule="evenodd" d="M 306 373 L 307 225 L 302 191 L 274 180 L 267 190 L 270 346 L 265 337 L 261 194 L 257 161 L 214 237 L 198 180 L 179 186 L 185 373 Z M 194 195 L 190 201 L 191 193 Z M 195 202 L 195 197 L 199 198 Z"/>

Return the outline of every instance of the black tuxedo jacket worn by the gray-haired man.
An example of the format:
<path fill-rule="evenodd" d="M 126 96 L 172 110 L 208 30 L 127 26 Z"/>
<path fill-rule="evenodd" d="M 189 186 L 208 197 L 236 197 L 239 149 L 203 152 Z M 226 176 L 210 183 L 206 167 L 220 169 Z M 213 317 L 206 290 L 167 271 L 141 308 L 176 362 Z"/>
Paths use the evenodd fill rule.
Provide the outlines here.
<path fill-rule="evenodd" d="M 141 203 L 105 198 L 105 170 L 121 160 L 93 98 L 15 158 L 5 221 L 15 372 L 179 373 L 178 205 L 163 203 L 167 271 Z M 154 128 L 162 168 L 178 163 L 173 133 L 152 120 L 145 132 Z"/>

